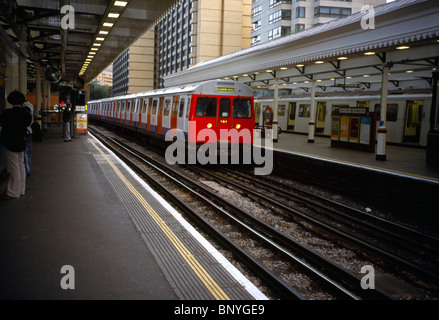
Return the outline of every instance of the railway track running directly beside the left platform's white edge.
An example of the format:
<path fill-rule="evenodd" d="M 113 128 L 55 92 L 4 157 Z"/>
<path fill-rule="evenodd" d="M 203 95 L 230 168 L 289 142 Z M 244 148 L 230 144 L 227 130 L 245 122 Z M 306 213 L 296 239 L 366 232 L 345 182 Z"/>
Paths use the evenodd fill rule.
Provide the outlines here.
<path fill-rule="evenodd" d="M 96 132 L 94 134 L 98 135 Z M 311 291 L 313 294 L 321 292 L 323 299 L 392 298 L 380 290 L 361 289 L 357 276 L 312 250 L 298 246 L 290 237 L 225 201 L 198 180 L 187 177 L 181 169 L 176 169 L 175 166 L 171 168 L 163 161 L 148 157 L 142 151 L 121 141 L 110 140 L 108 136 L 100 139 L 113 150 L 115 148 L 112 145 L 117 145 L 116 149 L 119 151 L 114 150 L 115 153 L 134 167 L 159 192 L 164 193 L 166 199 L 178 205 L 190 219 L 197 221 L 210 236 L 233 252 L 235 258 L 262 278 L 275 297 L 307 299 L 312 296 L 311 299 L 315 299 L 315 295 L 310 295 Z M 232 231 L 224 231 L 225 229 Z M 251 244 L 242 247 L 237 244 L 243 240 Z M 262 258 L 255 252 L 259 252 L 259 255 L 262 252 Z M 267 256 L 269 259 L 264 259 Z M 271 265 L 282 265 L 284 270 L 280 273 L 272 271 L 272 267 L 266 266 L 267 261 L 261 262 L 262 260 L 270 260 Z M 290 273 L 290 270 L 294 270 L 293 278 L 307 279 L 307 289 L 301 288 L 300 285 L 294 288 L 288 280 L 281 279 L 286 277 L 285 265 Z"/>

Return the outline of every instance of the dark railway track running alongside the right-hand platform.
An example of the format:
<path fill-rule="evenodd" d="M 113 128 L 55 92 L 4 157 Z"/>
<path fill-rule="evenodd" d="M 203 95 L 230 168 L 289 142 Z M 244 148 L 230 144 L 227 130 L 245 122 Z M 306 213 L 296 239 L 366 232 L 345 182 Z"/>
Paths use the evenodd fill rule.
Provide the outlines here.
<path fill-rule="evenodd" d="M 304 190 L 280 188 L 251 174 L 225 168 L 220 172 L 197 170 L 255 201 L 280 208 L 292 219 L 306 221 L 351 246 L 393 262 L 395 271 L 409 270 L 424 281 L 439 284 L 438 238 Z"/>

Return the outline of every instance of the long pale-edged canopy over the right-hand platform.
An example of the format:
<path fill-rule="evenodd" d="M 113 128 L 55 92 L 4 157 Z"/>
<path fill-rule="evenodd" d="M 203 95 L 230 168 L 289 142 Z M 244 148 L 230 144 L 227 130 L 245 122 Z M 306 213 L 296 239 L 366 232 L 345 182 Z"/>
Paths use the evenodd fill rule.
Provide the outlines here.
<path fill-rule="evenodd" d="M 428 88 L 439 67 L 438 17 L 437 0 L 397 0 L 200 62 L 165 85 L 230 79 L 305 94 L 315 81 L 319 92 L 367 91 L 381 88 L 387 67 L 389 89 Z"/>

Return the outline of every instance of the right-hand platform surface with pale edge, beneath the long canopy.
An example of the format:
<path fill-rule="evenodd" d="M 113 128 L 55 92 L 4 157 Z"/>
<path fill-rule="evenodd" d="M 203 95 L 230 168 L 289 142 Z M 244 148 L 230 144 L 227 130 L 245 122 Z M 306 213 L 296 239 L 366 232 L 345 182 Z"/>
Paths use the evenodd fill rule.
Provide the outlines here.
<path fill-rule="evenodd" d="M 285 132 L 279 134 L 273 148 L 322 161 L 439 182 L 439 168 L 427 165 L 425 149 L 387 145 L 386 160 L 380 161 L 375 159 L 375 153 L 331 147 L 331 139 L 327 137 L 316 136 L 314 143 L 308 143 L 307 135 Z"/>

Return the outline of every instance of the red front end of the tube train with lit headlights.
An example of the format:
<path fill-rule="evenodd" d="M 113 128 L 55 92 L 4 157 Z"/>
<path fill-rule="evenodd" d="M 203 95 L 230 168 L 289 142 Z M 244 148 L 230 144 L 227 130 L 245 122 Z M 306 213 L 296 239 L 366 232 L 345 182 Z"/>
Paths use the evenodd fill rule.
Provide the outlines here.
<path fill-rule="evenodd" d="M 247 162 L 245 155 L 251 152 L 255 128 L 253 95 L 253 90 L 241 82 L 201 84 L 192 95 L 188 142 L 196 143 L 201 148 L 199 154 L 205 152 L 211 160 L 216 149 L 223 162 Z"/>

